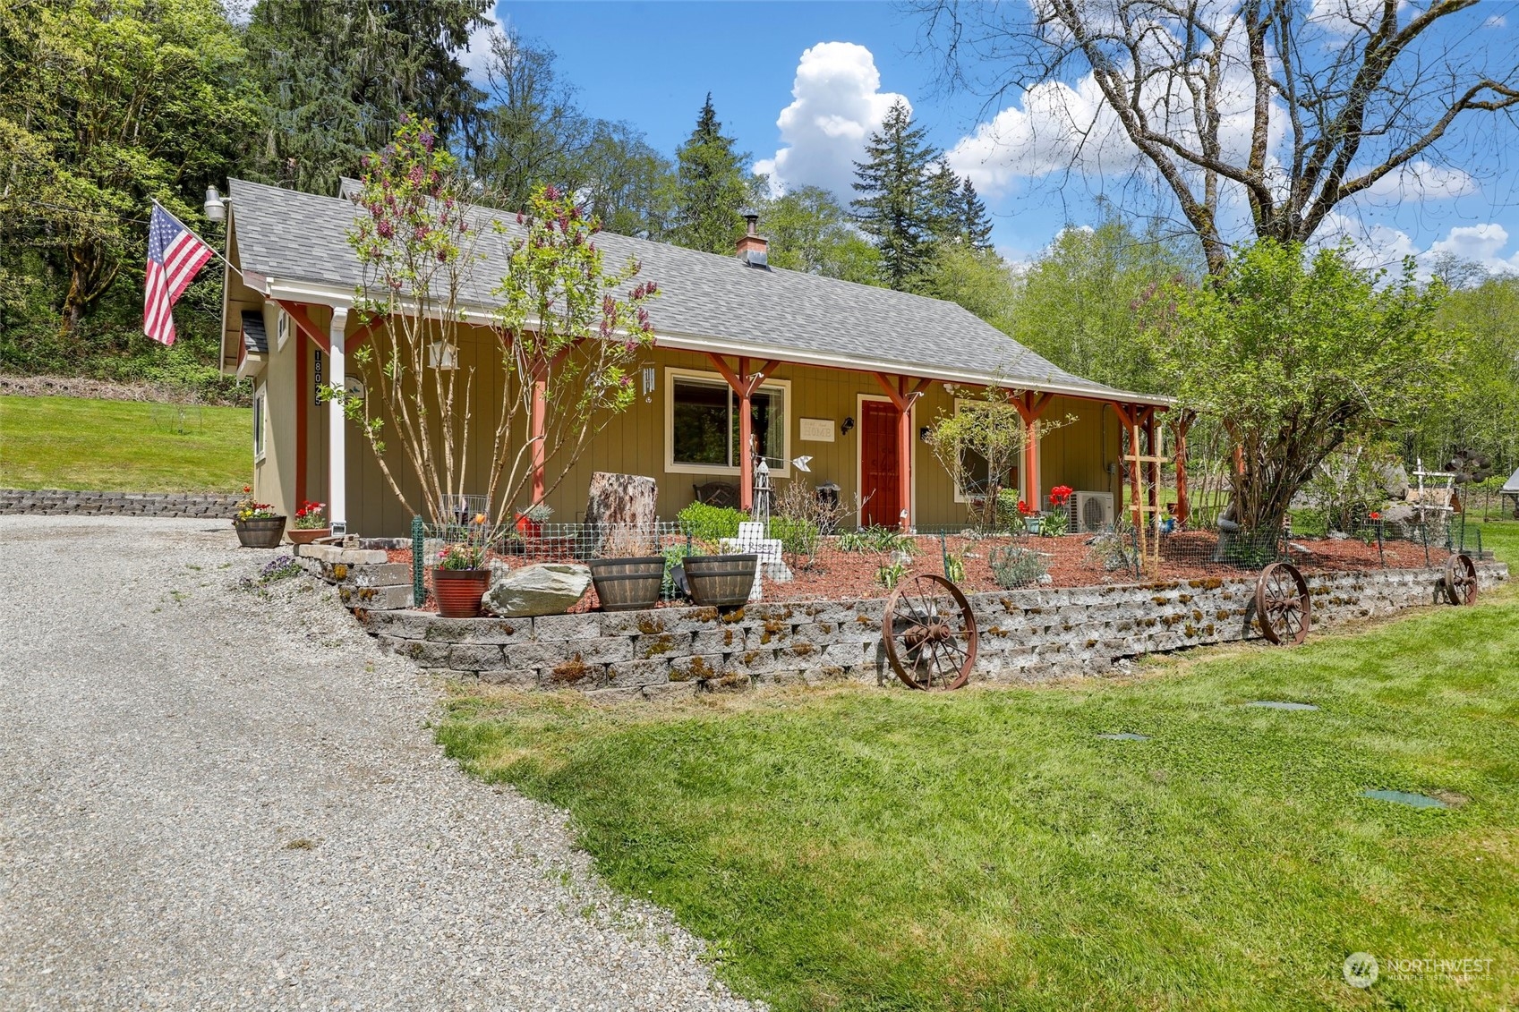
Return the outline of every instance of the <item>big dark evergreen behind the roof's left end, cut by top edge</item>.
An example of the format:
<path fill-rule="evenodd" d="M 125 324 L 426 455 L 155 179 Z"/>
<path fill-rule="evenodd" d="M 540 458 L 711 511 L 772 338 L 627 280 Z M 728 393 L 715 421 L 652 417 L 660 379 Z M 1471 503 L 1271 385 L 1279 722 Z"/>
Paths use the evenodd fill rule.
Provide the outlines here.
<path fill-rule="evenodd" d="M 248 59 L 266 96 L 254 175 L 336 193 L 401 115 L 431 120 L 445 143 L 480 93 L 457 53 L 491 0 L 260 0 Z"/>

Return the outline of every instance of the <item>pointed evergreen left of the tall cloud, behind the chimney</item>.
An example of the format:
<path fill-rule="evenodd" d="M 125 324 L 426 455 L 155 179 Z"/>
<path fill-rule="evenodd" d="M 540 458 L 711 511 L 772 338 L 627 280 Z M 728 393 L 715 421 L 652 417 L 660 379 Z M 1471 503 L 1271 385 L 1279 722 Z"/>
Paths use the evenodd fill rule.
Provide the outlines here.
<path fill-rule="evenodd" d="M 696 119 L 691 137 L 676 150 L 676 226 L 671 239 L 681 246 L 731 254 L 743 234 L 738 213 L 749 185 L 744 163 L 749 155 L 734 150 L 712 109 L 712 94 Z"/>

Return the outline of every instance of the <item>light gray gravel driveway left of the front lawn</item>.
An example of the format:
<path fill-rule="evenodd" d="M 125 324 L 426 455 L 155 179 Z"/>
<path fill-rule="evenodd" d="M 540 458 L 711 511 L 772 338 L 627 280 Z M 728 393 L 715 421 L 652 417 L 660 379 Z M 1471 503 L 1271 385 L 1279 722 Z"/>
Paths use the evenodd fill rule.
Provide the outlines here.
<path fill-rule="evenodd" d="M 737 1009 L 222 523 L 0 518 L 0 1007 Z"/>

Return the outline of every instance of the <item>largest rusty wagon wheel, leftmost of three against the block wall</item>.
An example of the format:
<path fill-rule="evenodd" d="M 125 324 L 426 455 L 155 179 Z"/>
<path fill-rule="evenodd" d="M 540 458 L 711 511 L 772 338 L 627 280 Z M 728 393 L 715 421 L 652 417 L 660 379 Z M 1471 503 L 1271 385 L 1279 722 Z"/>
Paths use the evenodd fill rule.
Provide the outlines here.
<path fill-rule="evenodd" d="M 908 688 L 960 688 L 975 666 L 975 614 L 945 577 L 914 576 L 886 599 L 881 641 L 892 670 Z"/>

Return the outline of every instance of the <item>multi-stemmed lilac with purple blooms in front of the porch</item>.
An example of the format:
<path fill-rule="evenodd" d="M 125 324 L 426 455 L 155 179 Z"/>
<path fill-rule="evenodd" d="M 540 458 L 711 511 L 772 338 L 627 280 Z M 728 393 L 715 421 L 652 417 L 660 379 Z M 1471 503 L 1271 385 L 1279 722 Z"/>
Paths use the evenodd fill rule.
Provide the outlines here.
<path fill-rule="evenodd" d="M 330 395 L 362 425 L 406 509 L 448 523 L 457 497 L 485 489 L 498 526 L 529 483 L 541 501 L 589 438 L 632 404 L 629 366 L 653 340 L 644 302 L 658 289 L 632 284 L 636 263 L 606 272 L 598 225 L 553 188 L 533 194 L 515 228 L 472 207 L 466 191 L 425 120 L 404 119 L 395 140 L 365 160 L 363 213 L 348 242 L 363 270 L 355 313 L 368 340 L 352 360 L 366 394 L 334 386 Z M 489 232 L 509 236 L 507 269 L 494 283 L 480 278 L 478 243 Z M 466 305 L 468 292 L 488 286 L 500 298 L 494 310 Z M 471 333 L 466 310 L 482 330 Z M 489 340 L 483 331 L 500 348 L 501 375 L 483 384 L 488 404 L 474 359 L 460 354 L 463 342 Z M 494 430 L 483 465 L 469 442 L 477 412 L 478 427 Z M 387 456 L 387 432 L 418 477 L 421 503 Z"/>

